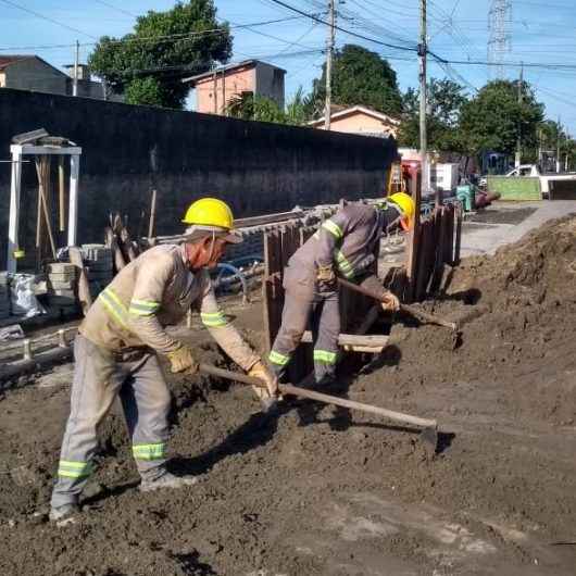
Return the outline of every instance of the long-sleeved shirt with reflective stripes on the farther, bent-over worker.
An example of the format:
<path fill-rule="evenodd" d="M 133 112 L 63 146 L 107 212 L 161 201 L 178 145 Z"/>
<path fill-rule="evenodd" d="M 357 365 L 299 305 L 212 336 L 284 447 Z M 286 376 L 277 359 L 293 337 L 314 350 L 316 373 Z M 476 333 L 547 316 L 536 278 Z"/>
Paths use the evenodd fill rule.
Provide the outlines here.
<path fill-rule="evenodd" d="M 320 229 L 292 255 L 290 264 L 309 267 L 335 265 L 338 274 L 348 279 L 366 275 L 379 246 L 380 238 L 392 220 L 398 217 L 395 208 L 350 203 L 324 221 Z M 368 274 L 368 278 L 374 275 Z M 362 284 L 376 287 L 363 278 Z M 377 277 L 374 276 L 377 281 Z M 381 289 L 381 284 L 377 284 Z"/>

